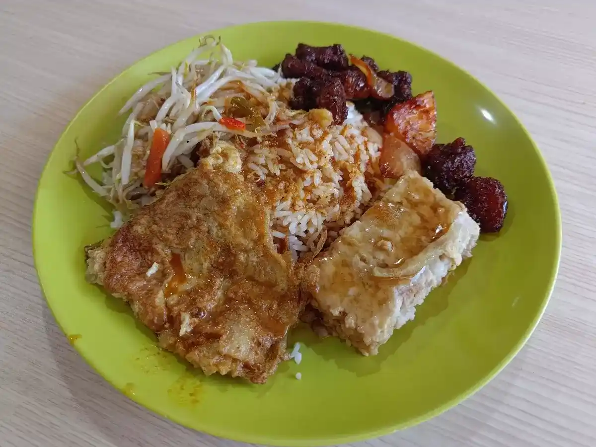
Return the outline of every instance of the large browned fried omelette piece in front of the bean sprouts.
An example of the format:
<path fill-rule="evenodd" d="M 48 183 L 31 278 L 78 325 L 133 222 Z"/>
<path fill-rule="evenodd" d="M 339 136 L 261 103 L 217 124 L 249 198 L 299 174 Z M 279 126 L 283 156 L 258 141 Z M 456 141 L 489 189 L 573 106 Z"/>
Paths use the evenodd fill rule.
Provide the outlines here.
<path fill-rule="evenodd" d="M 232 152 L 221 145 L 90 248 L 87 274 L 128 302 L 164 349 L 205 374 L 264 383 L 305 302 L 289 255 L 272 244 L 265 197 L 229 172 Z"/>

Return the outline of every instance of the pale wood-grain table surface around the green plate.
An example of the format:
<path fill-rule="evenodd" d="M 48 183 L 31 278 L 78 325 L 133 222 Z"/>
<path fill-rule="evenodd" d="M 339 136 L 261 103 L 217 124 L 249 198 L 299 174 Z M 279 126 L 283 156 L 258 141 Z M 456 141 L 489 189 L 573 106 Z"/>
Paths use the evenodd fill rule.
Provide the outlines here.
<path fill-rule="evenodd" d="M 563 213 L 557 284 L 522 352 L 440 417 L 354 445 L 596 446 L 596 3 L 588 0 L 2 0 L 0 445 L 241 445 L 141 408 L 77 355 L 41 296 L 30 217 L 52 146 L 111 77 L 203 30 L 290 18 L 392 33 L 473 73 L 535 138 Z"/>

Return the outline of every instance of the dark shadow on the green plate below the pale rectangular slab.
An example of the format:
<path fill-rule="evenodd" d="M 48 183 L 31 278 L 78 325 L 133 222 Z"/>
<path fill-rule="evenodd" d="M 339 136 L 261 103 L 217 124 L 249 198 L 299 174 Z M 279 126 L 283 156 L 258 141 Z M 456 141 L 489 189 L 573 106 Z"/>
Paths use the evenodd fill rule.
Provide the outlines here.
<path fill-rule="evenodd" d="M 377 355 L 368 357 L 361 355 L 354 347 L 347 346 L 337 337 L 321 339 L 304 324 L 290 334 L 288 346 L 291 346 L 291 343 L 300 342 L 325 361 L 334 362 L 338 368 L 350 371 L 358 377 L 378 373 L 387 358 L 400 355 L 401 347 L 411 339 L 415 331 L 420 330 L 432 321 L 433 317 L 448 308 L 450 300 L 456 298 L 453 290 L 467 272 L 469 263 L 470 259 L 464 260 L 454 272 L 449 274 L 443 280 L 443 284 L 433 290 L 424 303 L 417 306 L 414 320 L 408 321 L 403 327 L 395 330 L 389 341 L 379 348 Z M 465 297 L 457 297 L 457 299 L 460 298 Z"/>

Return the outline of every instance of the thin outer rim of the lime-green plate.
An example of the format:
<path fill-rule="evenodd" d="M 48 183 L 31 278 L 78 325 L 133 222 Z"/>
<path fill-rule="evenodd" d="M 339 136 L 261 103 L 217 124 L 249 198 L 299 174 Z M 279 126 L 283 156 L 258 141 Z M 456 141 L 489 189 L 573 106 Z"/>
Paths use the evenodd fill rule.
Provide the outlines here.
<path fill-rule="evenodd" d="M 181 42 L 191 41 L 193 39 L 197 39 L 200 36 L 204 36 L 207 34 L 219 33 L 224 30 L 230 30 L 230 29 L 234 29 L 237 27 L 258 26 L 258 25 L 266 25 L 266 24 L 280 24 L 280 23 L 281 24 L 283 24 L 283 23 L 293 23 L 293 24 L 302 23 L 302 24 L 309 25 L 309 26 L 333 26 L 333 27 L 341 27 L 346 30 L 350 30 L 350 29 L 363 30 L 368 33 L 374 33 L 376 35 L 381 35 L 384 38 L 399 41 L 405 45 L 411 45 L 411 46 L 415 47 L 416 49 L 418 49 L 419 51 L 426 53 L 427 55 L 431 55 L 432 57 L 438 58 L 443 63 L 449 64 L 452 68 L 457 69 L 462 74 L 464 74 L 466 77 L 468 77 L 472 82 L 475 82 L 478 85 L 482 86 L 482 88 L 485 89 L 487 92 L 489 92 L 489 94 L 491 94 L 492 97 L 495 98 L 496 101 L 498 101 L 498 103 L 510 114 L 510 116 L 513 117 L 514 122 L 522 130 L 523 134 L 526 136 L 526 138 L 530 142 L 533 150 L 535 151 L 536 155 L 538 156 L 538 160 L 539 160 L 539 163 L 541 164 L 542 170 L 546 174 L 546 179 L 547 179 L 547 183 L 548 183 L 548 191 L 550 192 L 549 195 L 552 198 L 552 204 L 554 205 L 555 259 L 554 259 L 554 262 L 552 263 L 550 275 L 548 278 L 547 293 L 545 293 L 545 297 L 544 297 L 544 299 L 542 299 L 541 305 L 537 309 L 537 312 L 536 312 L 535 316 L 533 317 L 532 321 L 529 322 L 529 325 L 528 325 L 525 333 L 520 338 L 520 340 L 511 348 L 511 350 L 507 353 L 507 355 L 505 355 L 504 358 L 498 364 L 496 364 L 495 367 L 492 368 L 492 370 L 488 374 L 485 375 L 485 377 L 483 377 L 481 380 L 477 381 L 473 386 L 469 387 L 464 392 L 455 396 L 453 399 L 450 399 L 449 401 L 444 402 L 442 405 L 437 406 L 437 408 L 434 408 L 432 411 L 428 411 L 422 415 L 419 415 L 418 417 L 414 417 L 414 418 L 410 418 L 406 421 L 402 421 L 401 423 L 386 424 L 385 426 L 381 427 L 380 429 L 369 430 L 366 432 L 360 432 L 358 434 L 345 434 L 345 435 L 340 435 L 340 436 L 330 435 L 327 437 L 318 437 L 318 438 L 300 437 L 298 439 L 290 439 L 288 437 L 281 437 L 279 435 L 268 436 L 266 434 L 237 433 L 237 432 L 230 433 L 230 432 L 222 432 L 221 430 L 212 430 L 208 426 L 203 426 L 201 424 L 200 420 L 197 421 L 195 427 L 190 427 L 186 424 L 179 422 L 178 420 L 176 420 L 176 418 L 170 418 L 170 416 L 168 414 L 166 414 L 166 412 L 162 411 L 160 408 L 157 408 L 150 402 L 147 402 L 145 399 L 139 398 L 139 396 L 136 396 L 136 395 L 126 395 L 126 397 L 128 397 L 132 401 L 143 406 L 145 409 L 148 409 L 156 414 L 159 414 L 160 416 L 166 418 L 166 420 L 173 421 L 176 424 L 187 427 L 191 430 L 211 434 L 213 436 L 221 437 L 223 439 L 229 439 L 229 440 L 234 440 L 234 441 L 238 441 L 238 442 L 257 443 L 257 444 L 264 444 L 264 445 L 288 446 L 288 447 L 314 447 L 314 446 L 326 446 L 326 445 L 331 445 L 331 444 L 336 444 L 336 443 L 359 442 L 362 440 L 373 439 L 375 437 L 391 434 L 398 430 L 403 430 L 408 427 L 413 427 L 413 426 L 416 426 L 417 424 L 420 424 L 424 421 L 430 420 L 430 419 L 442 414 L 443 412 L 447 411 L 448 409 L 451 409 L 454 406 L 458 405 L 458 403 L 465 401 L 466 399 L 473 396 L 480 389 L 482 389 L 482 387 L 484 387 L 493 378 L 495 378 L 496 375 L 498 375 L 505 368 L 505 366 L 507 366 L 511 362 L 511 360 L 517 355 L 517 353 L 520 352 L 520 350 L 527 343 L 527 340 L 530 338 L 530 336 L 532 336 L 533 331 L 535 331 L 536 327 L 538 326 L 539 322 L 542 319 L 542 316 L 544 315 L 544 312 L 545 312 L 545 310 L 548 306 L 548 303 L 550 302 L 550 299 L 552 297 L 552 292 L 554 291 L 555 283 L 557 282 L 558 269 L 560 267 L 560 260 L 561 260 L 561 243 L 562 243 L 561 209 L 560 209 L 560 204 L 558 201 L 558 194 L 557 194 L 557 189 L 555 187 L 555 182 L 554 182 L 554 179 L 552 178 L 552 175 L 551 175 L 550 169 L 548 168 L 548 164 L 545 160 L 545 157 L 543 156 L 538 145 L 532 138 L 532 135 L 530 134 L 530 132 L 526 129 L 526 126 L 523 125 L 522 121 L 513 112 L 513 110 L 511 110 L 511 108 L 508 107 L 508 105 L 505 104 L 505 102 L 502 101 L 501 98 L 498 95 L 496 95 L 495 92 L 492 91 L 492 89 L 488 88 L 488 86 L 486 86 L 482 81 L 477 79 L 475 76 L 471 75 L 470 72 L 468 72 L 467 70 L 458 66 L 451 60 L 437 54 L 436 52 L 434 52 L 430 49 L 424 48 L 424 46 L 418 45 L 415 42 L 408 41 L 407 39 L 403 39 L 399 36 L 392 35 L 387 32 L 381 32 L 378 30 L 373 30 L 373 29 L 369 29 L 367 27 L 357 26 L 357 25 L 353 25 L 353 24 L 328 22 L 328 21 L 317 21 L 317 20 L 264 20 L 264 21 L 250 21 L 250 22 L 244 22 L 244 23 L 237 23 L 237 24 L 232 24 L 230 26 L 219 27 L 217 29 L 208 29 L 208 30 L 205 30 L 204 32 L 197 33 L 192 36 L 188 36 L 187 38 L 184 38 L 184 39 L 179 39 L 178 41 L 171 42 L 167 45 L 164 45 L 161 48 L 157 48 L 156 50 L 150 52 L 150 54 L 147 54 L 144 57 L 141 57 L 138 60 L 135 60 L 132 64 L 130 64 L 124 70 L 119 72 L 116 76 L 114 76 L 112 79 L 110 79 L 107 83 L 105 83 L 105 85 L 103 85 L 100 89 L 98 89 L 98 91 L 96 91 L 91 97 L 89 97 L 85 101 L 85 103 L 79 108 L 79 110 L 76 111 L 75 115 L 72 117 L 72 119 L 70 119 L 69 123 L 63 129 L 63 131 L 61 132 L 57 141 L 53 145 L 52 150 L 49 152 L 48 157 L 45 160 L 44 168 L 42 169 L 41 174 L 39 175 L 38 186 L 36 188 L 35 198 L 33 201 L 32 226 L 31 226 L 33 263 L 35 266 L 35 272 L 36 272 L 36 277 L 38 278 L 39 287 L 41 289 L 42 295 L 44 296 L 45 302 L 47 303 L 48 308 L 51 311 L 52 316 L 54 317 L 55 323 L 58 325 L 58 327 L 60 328 L 60 330 L 62 331 L 62 333 L 64 334 L 64 336 L 66 338 L 67 332 L 64 330 L 64 327 L 61 324 L 61 322 L 58 321 L 58 319 L 56 318 L 54 308 L 52 307 L 52 304 L 51 304 L 52 300 L 49 299 L 48 295 L 46 294 L 46 291 L 44 288 L 44 283 L 43 283 L 42 278 L 39 274 L 38 256 L 36 256 L 36 252 L 41 252 L 41 250 L 42 250 L 42 248 L 40 247 L 40 243 L 39 243 L 40 236 L 38 235 L 38 231 L 36 231 L 36 228 L 38 226 L 38 225 L 36 225 L 36 222 L 38 220 L 37 216 L 38 216 L 38 212 L 39 212 L 39 194 L 42 189 L 42 181 L 44 179 L 44 176 L 48 172 L 49 164 L 52 160 L 52 157 L 55 156 L 56 148 L 58 147 L 58 145 L 60 145 L 63 142 L 63 139 L 65 138 L 65 134 L 73 126 L 73 123 L 75 123 L 76 120 L 79 119 L 79 116 L 80 116 L 80 114 L 82 114 L 83 110 L 85 110 L 85 108 L 88 107 L 88 105 L 92 101 L 94 101 L 95 98 L 97 98 L 98 96 L 103 94 L 103 92 L 109 86 L 111 86 L 114 82 L 119 80 L 120 77 L 125 76 L 137 64 L 141 63 L 144 60 L 147 60 L 148 58 L 153 57 L 158 52 L 163 51 L 164 49 L 167 49 L 170 46 L 179 44 Z M 89 366 L 91 366 L 93 368 L 93 370 L 98 375 L 100 375 L 101 378 L 103 378 L 103 380 L 107 381 L 107 383 L 109 383 L 112 387 L 114 387 L 114 389 L 119 390 L 119 388 L 116 386 L 116 384 L 112 383 L 110 380 L 108 380 L 105 377 L 104 374 L 101 373 L 101 367 L 99 365 L 97 365 L 94 361 L 92 361 L 91 358 L 89 358 L 89 356 L 86 355 L 85 349 L 82 349 L 79 346 L 79 344 L 76 344 L 76 343 L 72 344 L 72 346 L 75 348 L 76 352 L 79 353 L 80 356 L 82 356 L 82 358 L 85 360 L 85 362 Z"/>

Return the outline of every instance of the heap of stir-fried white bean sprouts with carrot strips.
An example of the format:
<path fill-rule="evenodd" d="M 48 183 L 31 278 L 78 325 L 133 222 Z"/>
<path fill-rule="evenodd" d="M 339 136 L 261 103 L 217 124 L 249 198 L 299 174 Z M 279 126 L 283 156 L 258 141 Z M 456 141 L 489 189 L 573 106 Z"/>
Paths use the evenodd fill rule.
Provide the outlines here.
<path fill-rule="evenodd" d="M 290 123 L 288 116 L 277 116 L 284 108 L 278 100 L 280 73 L 256 61 L 234 61 L 212 36 L 201 39 L 178 67 L 152 74 L 157 77 L 119 111 L 129 113 L 120 141 L 83 162 L 75 160 L 83 181 L 114 206 L 114 227 L 155 200 L 172 179 L 164 173 L 192 169 L 190 154 L 204 139 L 253 138 Z M 104 169 L 101 182 L 85 169 L 94 163 Z"/>

